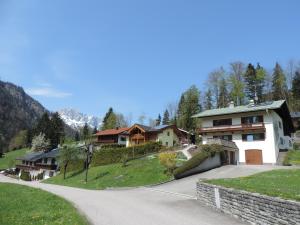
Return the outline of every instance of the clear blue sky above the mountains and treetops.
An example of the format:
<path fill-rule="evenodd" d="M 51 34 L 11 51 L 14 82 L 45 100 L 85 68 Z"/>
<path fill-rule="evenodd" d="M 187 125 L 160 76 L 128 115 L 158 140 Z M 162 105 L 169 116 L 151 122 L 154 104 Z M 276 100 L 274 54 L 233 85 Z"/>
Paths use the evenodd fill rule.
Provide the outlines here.
<path fill-rule="evenodd" d="M 0 0 L 0 79 L 47 109 L 156 118 L 230 62 L 299 60 L 298 0 Z"/>

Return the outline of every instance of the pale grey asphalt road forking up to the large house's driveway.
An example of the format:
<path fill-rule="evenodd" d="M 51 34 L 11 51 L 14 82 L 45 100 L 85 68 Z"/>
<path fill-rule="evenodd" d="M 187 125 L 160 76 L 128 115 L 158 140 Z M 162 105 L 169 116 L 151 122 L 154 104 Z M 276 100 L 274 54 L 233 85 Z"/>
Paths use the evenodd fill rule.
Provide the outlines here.
<path fill-rule="evenodd" d="M 243 176 L 268 169 L 272 168 L 228 166 L 202 173 L 201 177 Z M 199 177 L 196 175 L 153 187 L 102 191 L 18 181 L 3 175 L 0 175 L 0 182 L 25 184 L 62 196 L 73 202 L 95 225 L 245 224 L 205 207 L 195 199 L 195 185 Z"/>

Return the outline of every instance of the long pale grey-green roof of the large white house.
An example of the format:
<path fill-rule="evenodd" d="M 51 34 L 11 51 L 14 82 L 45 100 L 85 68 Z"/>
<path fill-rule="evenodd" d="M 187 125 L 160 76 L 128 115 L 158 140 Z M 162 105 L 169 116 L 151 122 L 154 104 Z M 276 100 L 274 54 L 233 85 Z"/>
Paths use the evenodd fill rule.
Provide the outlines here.
<path fill-rule="evenodd" d="M 194 115 L 194 118 L 203 118 L 203 117 L 210 117 L 210 116 L 221 116 L 227 114 L 235 114 L 235 113 L 245 113 L 245 112 L 254 112 L 254 111 L 264 111 L 264 110 L 271 110 L 271 109 L 278 109 L 280 108 L 285 100 L 279 101 L 271 101 L 271 102 L 264 102 L 257 105 L 243 105 L 243 106 L 235 106 L 235 107 L 227 107 L 227 108 L 219 108 L 219 109 L 211 109 L 205 110 L 201 113 Z"/>

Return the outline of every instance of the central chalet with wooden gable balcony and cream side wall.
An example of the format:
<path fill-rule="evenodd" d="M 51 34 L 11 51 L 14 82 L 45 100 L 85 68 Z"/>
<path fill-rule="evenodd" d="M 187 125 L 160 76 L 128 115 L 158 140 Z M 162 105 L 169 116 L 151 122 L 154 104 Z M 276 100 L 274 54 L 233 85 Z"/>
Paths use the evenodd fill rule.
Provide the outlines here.
<path fill-rule="evenodd" d="M 183 137 L 181 131 L 175 125 L 149 127 L 141 124 L 134 124 L 128 130 L 128 135 L 129 140 L 127 146 L 156 141 L 161 142 L 163 146 L 172 147 L 180 144 Z"/>

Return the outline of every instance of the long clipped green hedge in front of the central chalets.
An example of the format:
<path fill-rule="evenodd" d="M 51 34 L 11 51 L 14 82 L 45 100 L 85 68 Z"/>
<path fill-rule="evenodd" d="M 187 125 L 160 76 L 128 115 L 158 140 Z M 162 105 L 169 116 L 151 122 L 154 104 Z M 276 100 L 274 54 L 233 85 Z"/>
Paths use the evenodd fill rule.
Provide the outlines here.
<path fill-rule="evenodd" d="M 162 146 L 159 142 L 148 142 L 143 145 L 122 148 L 102 148 L 94 152 L 92 158 L 92 166 L 107 165 L 112 163 L 120 163 L 124 159 L 124 155 L 128 160 L 136 159 L 149 153 L 156 153 L 161 150 Z"/>

